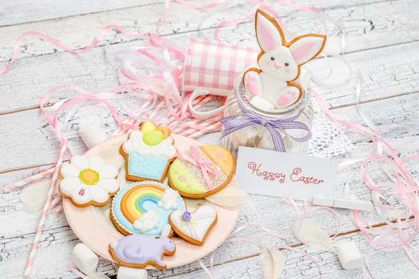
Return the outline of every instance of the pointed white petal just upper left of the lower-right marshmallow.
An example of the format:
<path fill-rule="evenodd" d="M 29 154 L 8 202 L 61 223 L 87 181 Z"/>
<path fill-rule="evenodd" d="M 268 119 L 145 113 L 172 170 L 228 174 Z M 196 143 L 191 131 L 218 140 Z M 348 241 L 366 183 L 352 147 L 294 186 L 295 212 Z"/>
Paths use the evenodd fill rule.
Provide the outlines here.
<path fill-rule="evenodd" d="M 300 230 L 299 225 L 299 220 L 296 220 L 293 229 L 295 237 L 302 243 L 317 250 L 335 252 L 330 236 L 313 219 L 302 219 Z"/>

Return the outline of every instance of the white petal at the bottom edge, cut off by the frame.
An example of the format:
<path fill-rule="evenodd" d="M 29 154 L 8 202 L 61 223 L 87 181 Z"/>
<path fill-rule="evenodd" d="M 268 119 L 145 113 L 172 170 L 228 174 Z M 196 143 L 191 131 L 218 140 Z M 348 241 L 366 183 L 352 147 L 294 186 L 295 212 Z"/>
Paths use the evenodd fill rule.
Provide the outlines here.
<path fill-rule="evenodd" d="M 260 252 L 260 267 L 265 278 L 277 279 L 281 276 L 285 266 L 285 257 L 281 250 L 267 250 L 263 248 Z"/>

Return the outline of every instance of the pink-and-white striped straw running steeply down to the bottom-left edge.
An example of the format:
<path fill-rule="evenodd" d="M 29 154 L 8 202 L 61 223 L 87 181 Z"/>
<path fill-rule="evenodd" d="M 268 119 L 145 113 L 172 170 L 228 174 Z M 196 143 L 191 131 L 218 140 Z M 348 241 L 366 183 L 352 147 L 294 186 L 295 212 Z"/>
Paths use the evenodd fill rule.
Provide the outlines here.
<path fill-rule="evenodd" d="M 31 248 L 31 251 L 29 252 L 27 265 L 24 268 L 23 276 L 25 278 L 29 278 L 31 274 L 31 267 L 32 267 L 32 264 L 34 264 L 36 250 L 38 250 L 39 239 L 41 238 L 43 226 L 45 224 L 45 220 L 47 219 L 48 209 L 50 209 L 50 204 L 52 200 L 52 195 L 54 193 L 55 183 L 57 183 L 59 169 L 61 169 L 61 165 L 63 163 L 64 155 L 67 151 L 67 148 L 68 148 L 68 140 L 65 140 L 63 142 L 63 146 L 61 147 L 61 150 L 59 151 L 59 158 L 57 160 L 57 165 L 55 165 L 54 174 L 52 175 L 52 180 L 50 183 L 50 190 L 48 190 L 47 198 L 45 199 L 45 204 L 43 206 L 43 210 L 41 213 L 41 218 L 39 219 L 38 227 L 36 227 L 34 242 L 32 242 L 32 248 Z"/>

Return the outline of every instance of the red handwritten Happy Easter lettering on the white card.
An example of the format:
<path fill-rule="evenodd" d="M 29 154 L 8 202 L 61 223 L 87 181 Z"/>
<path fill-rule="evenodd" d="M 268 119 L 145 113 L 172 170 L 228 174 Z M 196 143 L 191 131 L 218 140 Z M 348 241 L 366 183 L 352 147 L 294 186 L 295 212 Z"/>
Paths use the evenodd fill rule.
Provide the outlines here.
<path fill-rule="evenodd" d="M 249 169 L 253 171 L 251 174 L 260 176 L 261 178 L 263 178 L 263 180 L 277 180 L 279 183 L 285 182 L 286 174 L 264 171 L 262 168 L 262 164 L 258 165 L 254 162 L 250 162 L 249 164 L 247 164 L 247 167 L 249 167 Z M 304 184 L 320 184 L 324 182 L 323 179 L 315 179 L 313 176 L 303 176 L 301 172 L 302 169 L 300 167 L 295 167 L 295 169 L 293 169 L 293 172 L 289 175 L 291 181 L 302 182 Z"/>

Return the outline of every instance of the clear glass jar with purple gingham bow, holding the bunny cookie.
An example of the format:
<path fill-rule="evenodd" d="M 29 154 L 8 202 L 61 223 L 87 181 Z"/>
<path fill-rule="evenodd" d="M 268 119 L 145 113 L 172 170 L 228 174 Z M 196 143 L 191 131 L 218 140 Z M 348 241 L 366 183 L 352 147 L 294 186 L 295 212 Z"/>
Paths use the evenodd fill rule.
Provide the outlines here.
<path fill-rule="evenodd" d="M 313 105 L 311 105 L 311 93 L 309 90 L 302 91 L 302 97 L 297 103 L 295 103 L 295 105 L 284 109 L 276 109 L 274 112 L 260 110 L 258 107 L 252 105 L 250 100 L 251 97 L 245 93 L 242 78 L 240 77 L 237 80 L 235 89 L 231 90 L 227 96 L 224 117 L 243 114 L 239 107 L 240 103 L 240 105 L 242 105 L 242 107 L 244 107 L 244 109 L 248 112 L 251 112 L 252 114 L 255 114 L 265 120 L 289 119 L 293 116 L 300 115 L 294 121 L 304 123 L 311 130 L 314 119 L 314 110 Z M 222 127 L 221 131 L 223 130 L 225 130 L 224 127 Z M 295 142 L 291 139 L 291 137 L 304 137 L 307 135 L 307 130 L 286 129 L 286 133 L 291 137 L 286 135 L 281 130 L 279 130 L 279 132 L 281 133 L 286 152 L 304 154 L 307 151 L 308 140 L 305 142 Z M 272 135 L 267 128 L 260 125 L 247 126 L 240 130 L 236 130 L 235 132 L 226 135 L 226 137 L 223 137 L 221 139 L 221 144 L 224 148 L 233 153 L 236 160 L 239 146 L 275 150 Z"/>

